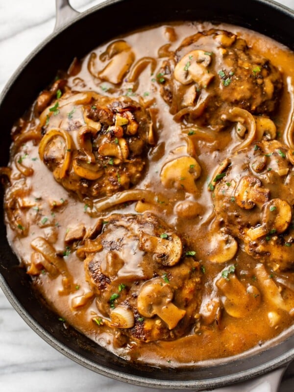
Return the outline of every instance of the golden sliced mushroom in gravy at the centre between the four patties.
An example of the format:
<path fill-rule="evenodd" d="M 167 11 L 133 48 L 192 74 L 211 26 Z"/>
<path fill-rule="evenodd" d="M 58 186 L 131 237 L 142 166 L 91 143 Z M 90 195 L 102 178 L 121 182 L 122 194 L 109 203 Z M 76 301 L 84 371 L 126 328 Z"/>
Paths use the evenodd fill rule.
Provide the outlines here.
<path fill-rule="evenodd" d="M 166 188 L 184 189 L 188 193 L 195 193 L 195 180 L 200 176 L 201 168 L 195 158 L 182 156 L 168 162 L 160 173 L 161 183 Z"/>

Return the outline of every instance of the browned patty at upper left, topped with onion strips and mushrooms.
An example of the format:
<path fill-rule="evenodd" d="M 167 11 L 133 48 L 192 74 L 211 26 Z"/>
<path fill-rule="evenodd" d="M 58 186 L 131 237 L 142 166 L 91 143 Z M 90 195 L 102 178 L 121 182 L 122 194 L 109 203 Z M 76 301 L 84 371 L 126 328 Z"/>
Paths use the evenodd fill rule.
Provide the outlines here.
<path fill-rule="evenodd" d="M 64 188 L 98 198 L 137 184 L 153 143 L 152 122 L 128 97 L 67 93 L 52 103 L 40 142 L 41 159 Z"/>

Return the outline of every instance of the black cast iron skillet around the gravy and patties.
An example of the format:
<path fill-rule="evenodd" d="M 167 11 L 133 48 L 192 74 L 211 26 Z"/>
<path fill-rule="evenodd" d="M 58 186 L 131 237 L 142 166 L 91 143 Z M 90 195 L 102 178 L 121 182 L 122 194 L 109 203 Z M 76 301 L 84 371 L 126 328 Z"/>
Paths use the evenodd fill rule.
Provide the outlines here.
<path fill-rule="evenodd" d="M 138 0 L 110 0 L 82 14 L 74 11 L 68 0 L 56 0 L 56 4 L 55 31 L 24 61 L 1 94 L 0 166 L 6 166 L 8 162 L 12 124 L 53 80 L 56 71 L 67 69 L 74 56 L 83 57 L 119 34 L 175 20 L 208 20 L 256 30 L 294 50 L 294 12 L 269 0 L 148 0 L 140 2 L 140 8 Z M 263 389 L 273 391 L 286 365 L 294 359 L 291 330 L 266 349 L 251 350 L 249 354 L 224 361 L 210 361 L 193 369 L 152 368 L 112 355 L 75 330 L 65 330 L 58 316 L 34 292 L 29 277 L 19 268 L 19 261 L 7 242 L 2 209 L 0 286 L 28 325 L 57 350 L 102 375 L 135 385 L 200 391 L 253 379 L 249 384 L 245 382 L 242 387 L 232 388 L 249 391 L 252 385 L 257 385 L 257 391 L 261 391 L 262 381 L 255 377 L 274 371 L 275 386 Z M 263 385 L 267 383 L 268 380 Z"/>

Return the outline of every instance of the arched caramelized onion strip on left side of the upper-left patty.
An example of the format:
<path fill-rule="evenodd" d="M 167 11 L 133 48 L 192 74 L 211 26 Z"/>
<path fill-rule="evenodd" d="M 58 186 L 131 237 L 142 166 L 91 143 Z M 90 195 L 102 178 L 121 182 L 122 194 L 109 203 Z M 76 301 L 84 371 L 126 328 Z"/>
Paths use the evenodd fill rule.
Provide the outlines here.
<path fill-rule="evenodd" d="M 56 136 L 61 136 L 65 141 L 65 156 L 59 173 L 59 177 L 64 178 L 66 175 L 66 171 L 69 169 L 71 164 L 71 156 L 73 150 L 73 139 L 68 132 L 65 132 L 64 130 L 57 129 L 57 128 L 51 129 L 48 133 L 46 133 L 46 135 L 43 137 L 43 139 L 40 142 L 39 155 L 41 160 L 43 161 L 46 147 L 49 145 L 51 140 L 54 139 Z"/>

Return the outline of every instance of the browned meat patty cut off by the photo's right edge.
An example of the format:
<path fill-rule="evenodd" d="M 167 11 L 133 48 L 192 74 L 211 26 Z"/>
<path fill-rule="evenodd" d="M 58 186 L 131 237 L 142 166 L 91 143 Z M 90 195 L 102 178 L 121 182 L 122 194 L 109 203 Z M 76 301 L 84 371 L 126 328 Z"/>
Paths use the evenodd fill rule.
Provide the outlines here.
<path fill-rule="evenodd" d="M 276 140 L 252 144 L 227 159 L 210 185 L 221 226 L 273 270 L 294 268 L 293 153 Z"/>

